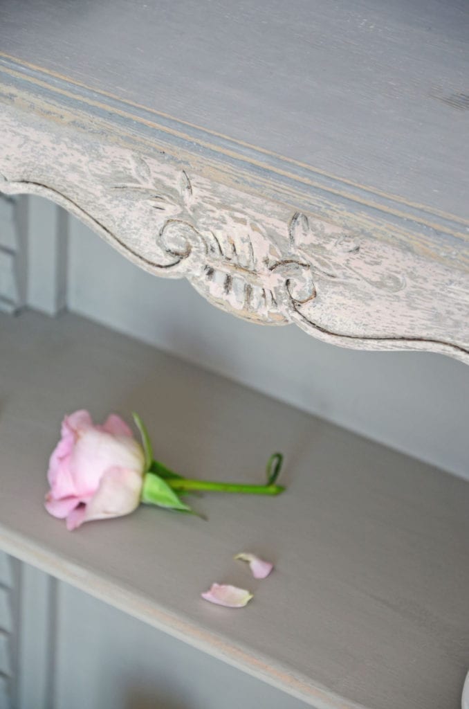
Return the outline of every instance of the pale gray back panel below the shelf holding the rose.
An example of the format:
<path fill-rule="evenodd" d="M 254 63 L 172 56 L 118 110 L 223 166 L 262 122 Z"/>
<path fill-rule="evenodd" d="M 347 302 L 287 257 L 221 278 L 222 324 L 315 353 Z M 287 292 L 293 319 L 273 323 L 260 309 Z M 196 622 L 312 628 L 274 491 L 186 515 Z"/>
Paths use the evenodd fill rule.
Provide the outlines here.
<path fill-rule="evenodd" d="M 307 709 L 88 593 L 64 583 L 58 591 L 54 693 L 44 709 L 54 701 L 58 709 Z"/>

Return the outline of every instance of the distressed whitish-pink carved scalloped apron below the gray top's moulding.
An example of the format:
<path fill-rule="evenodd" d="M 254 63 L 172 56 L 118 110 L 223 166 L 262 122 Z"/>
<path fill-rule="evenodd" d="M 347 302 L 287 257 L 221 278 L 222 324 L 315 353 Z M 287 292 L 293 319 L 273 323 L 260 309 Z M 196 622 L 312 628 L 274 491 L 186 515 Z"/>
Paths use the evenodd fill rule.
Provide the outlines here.
<path fill-rule="evenodd" d="M 320 218 L 96 121 L 84 130 L 52 105 L 42 116 L 27 107 L 18 96 L 0 104 L 5 194 L 52 199 L 142 268 L 186 277 L 241 318 L 296 323 L 345 347 L 469 361 L 467 270 L 393 240 L 392 223 L 378 238 L 353 214 L 349 227 L 346 216 Z M 378 235 L 383 220 L 374 223 Z"/>

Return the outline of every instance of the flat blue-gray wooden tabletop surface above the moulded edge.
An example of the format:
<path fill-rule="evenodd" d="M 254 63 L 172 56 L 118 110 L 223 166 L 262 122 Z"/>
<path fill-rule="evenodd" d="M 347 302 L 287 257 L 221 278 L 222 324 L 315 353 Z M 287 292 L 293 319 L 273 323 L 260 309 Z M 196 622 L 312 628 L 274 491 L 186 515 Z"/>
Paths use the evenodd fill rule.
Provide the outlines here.
<path fill-rule="evenodd" d="M 0 52 L 111 94 L 129 113 L 145 107 L 155 121 L 163 113 L 201 126 L 209 143 L 223 142 L 213 131 L 256 146 L 259 160 L 287 161 L 294 174 L 298 161 L 320 182 L 324 171 L 351 190 L 365 185 L 461 219 L 468 35 L 464 0 L 0 6 Z"/>

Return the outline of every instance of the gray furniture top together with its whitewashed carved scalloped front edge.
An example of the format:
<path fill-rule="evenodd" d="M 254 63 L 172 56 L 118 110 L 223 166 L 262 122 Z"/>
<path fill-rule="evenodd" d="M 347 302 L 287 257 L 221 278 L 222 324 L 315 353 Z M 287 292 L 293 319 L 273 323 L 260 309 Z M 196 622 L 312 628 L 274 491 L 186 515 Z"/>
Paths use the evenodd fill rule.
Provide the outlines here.
<path fill-rule="evenodd" d="M 0 189 L 241 318 L 469 362 L 468 18 L 5 0 Z"/>

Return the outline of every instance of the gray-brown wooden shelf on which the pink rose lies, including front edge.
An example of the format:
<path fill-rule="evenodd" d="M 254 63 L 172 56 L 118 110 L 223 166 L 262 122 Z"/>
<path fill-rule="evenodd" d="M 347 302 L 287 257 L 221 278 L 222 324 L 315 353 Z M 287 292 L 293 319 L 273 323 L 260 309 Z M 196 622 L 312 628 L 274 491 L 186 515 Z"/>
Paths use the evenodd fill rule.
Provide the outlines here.
<path fill-rule="evenodd" d="M 469 664 L 469 484 L 65 315 L 0 316 L 0 546 L 317 709 L 458 709 Z M 43 508 L 64 413 L 147 422 L 188 476 L 263 479 L 210 496 L 208 522 L 154 508 L 67 532 Z M 236 552 L 276 564 L 254 581 Z M 254 591 L 242 610 L 200 598 Z"/>

